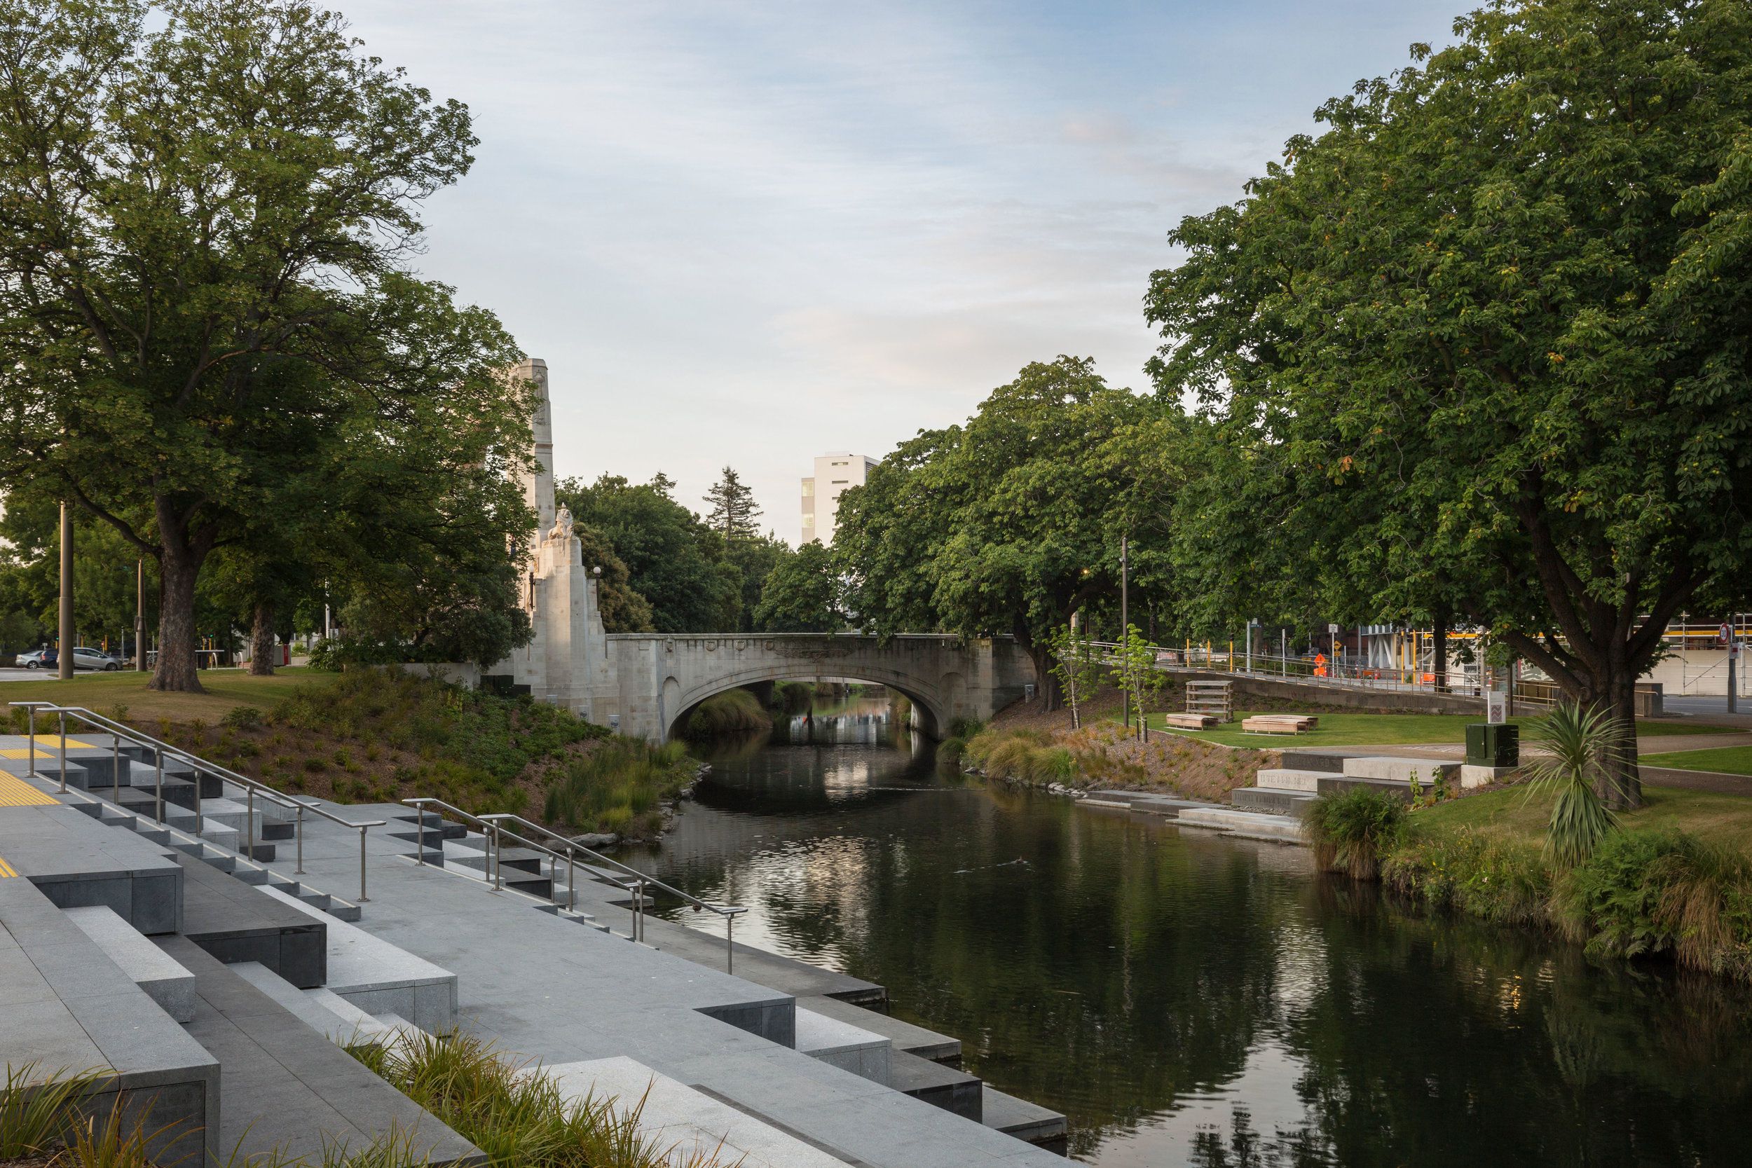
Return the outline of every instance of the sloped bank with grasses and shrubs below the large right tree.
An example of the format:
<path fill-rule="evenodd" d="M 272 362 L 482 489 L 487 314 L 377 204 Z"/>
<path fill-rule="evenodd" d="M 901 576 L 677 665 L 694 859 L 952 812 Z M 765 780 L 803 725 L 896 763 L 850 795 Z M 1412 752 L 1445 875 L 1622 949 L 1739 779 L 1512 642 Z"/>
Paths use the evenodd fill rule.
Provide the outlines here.
<path fill-rule="evenodd" d="M 1544 851 L 1551 795 L 1505 788 L 1410 813 L 1372 792 L 1305 818 L 1330 870 L 1433 909 L 1540 928 L 1601 958 L 1752 982 L 1752 800 L 1663 786 L 1573 869 Z M 1353 806 L 1354 804 L 1354 806 Z"/>

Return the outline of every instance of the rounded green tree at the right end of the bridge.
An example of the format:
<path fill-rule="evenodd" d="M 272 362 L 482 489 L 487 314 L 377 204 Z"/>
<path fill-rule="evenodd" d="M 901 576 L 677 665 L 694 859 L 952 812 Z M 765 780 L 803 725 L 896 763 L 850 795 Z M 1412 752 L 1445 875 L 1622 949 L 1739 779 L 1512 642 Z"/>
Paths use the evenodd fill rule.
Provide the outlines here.
<path fill-rule="evenodd" d="M 1025 366 L 965 427 L 902 443 L 839 497 L 851 611 L 883 636 L 1011 634 L 1056 707 L 1051 630 L 1118 595 L 1121 532 L 1134 585 L 1167 583 L 1183 426 L 1176 406 L 1109 387 L 1091 361 Z"/>

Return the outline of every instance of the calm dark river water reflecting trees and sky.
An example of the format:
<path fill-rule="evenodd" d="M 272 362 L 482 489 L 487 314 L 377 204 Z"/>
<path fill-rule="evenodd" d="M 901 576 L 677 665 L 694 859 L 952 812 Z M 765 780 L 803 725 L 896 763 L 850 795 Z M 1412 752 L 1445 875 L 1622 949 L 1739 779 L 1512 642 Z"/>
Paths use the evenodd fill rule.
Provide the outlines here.
<path fill-rule="evenodd" d="M 1104 1166 L 1752 1164 L 1752 995 L 1405 912 L 1225 841 L 781 725 L 641 863 L 888 988 Z"/>

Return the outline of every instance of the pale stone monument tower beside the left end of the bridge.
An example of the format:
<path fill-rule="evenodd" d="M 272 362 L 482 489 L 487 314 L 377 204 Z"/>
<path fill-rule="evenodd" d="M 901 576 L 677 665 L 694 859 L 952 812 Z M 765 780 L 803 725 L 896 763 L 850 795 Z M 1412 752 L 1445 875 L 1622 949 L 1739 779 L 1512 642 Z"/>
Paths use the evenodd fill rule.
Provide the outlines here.
<path fill-rule="evenodd" d="M 538 700 L 606 725 L 618 702 L 597 608 L 596 573 L 583 562 L 583 548 L 571 531 L 571 511 L 554 506 L 554 415 L 547 361 L 527 357 L 510 373 L 536 387 L 531 419 L 534 469 L 519 471 L 524 501 L 536 513 L 524 562 L 524 609 L 534 625 L 534 637 L 489 674 L 508 679 Z"/>

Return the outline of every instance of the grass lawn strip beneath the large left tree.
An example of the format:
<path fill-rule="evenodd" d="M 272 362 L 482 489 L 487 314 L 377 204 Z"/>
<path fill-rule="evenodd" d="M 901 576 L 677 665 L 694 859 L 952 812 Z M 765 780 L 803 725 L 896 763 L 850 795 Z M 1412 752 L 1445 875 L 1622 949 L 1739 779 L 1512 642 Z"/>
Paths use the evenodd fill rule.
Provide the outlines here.
<path fill-rule="evenodd" d="M 215 725 L 228 709 L 237 706 L 256 706 L 272 709 L 282 697 L 301 685 L 333 685 L 340 674 L 308 669 L 305 665 L 284 665 L 272 678 L 252 678 L 242 669 L 203 669 L 201 686 L 205 693 L 159 693 L 147 690 L 147 672 L 82 672 L 68 681 L 49 678 L 46 681 L 5 681 L 0 683 L 0 702 L 54 702 L 58 706 L 84 706 L 100 714 L 110 714 L 116 706 L 128 707 L 128 718 L 135 725 L 151 725 L 156 718 L 170 721 L 194 721 L 200 718 Z M 11 713 L 0 709 L 0 716 Z"/>

